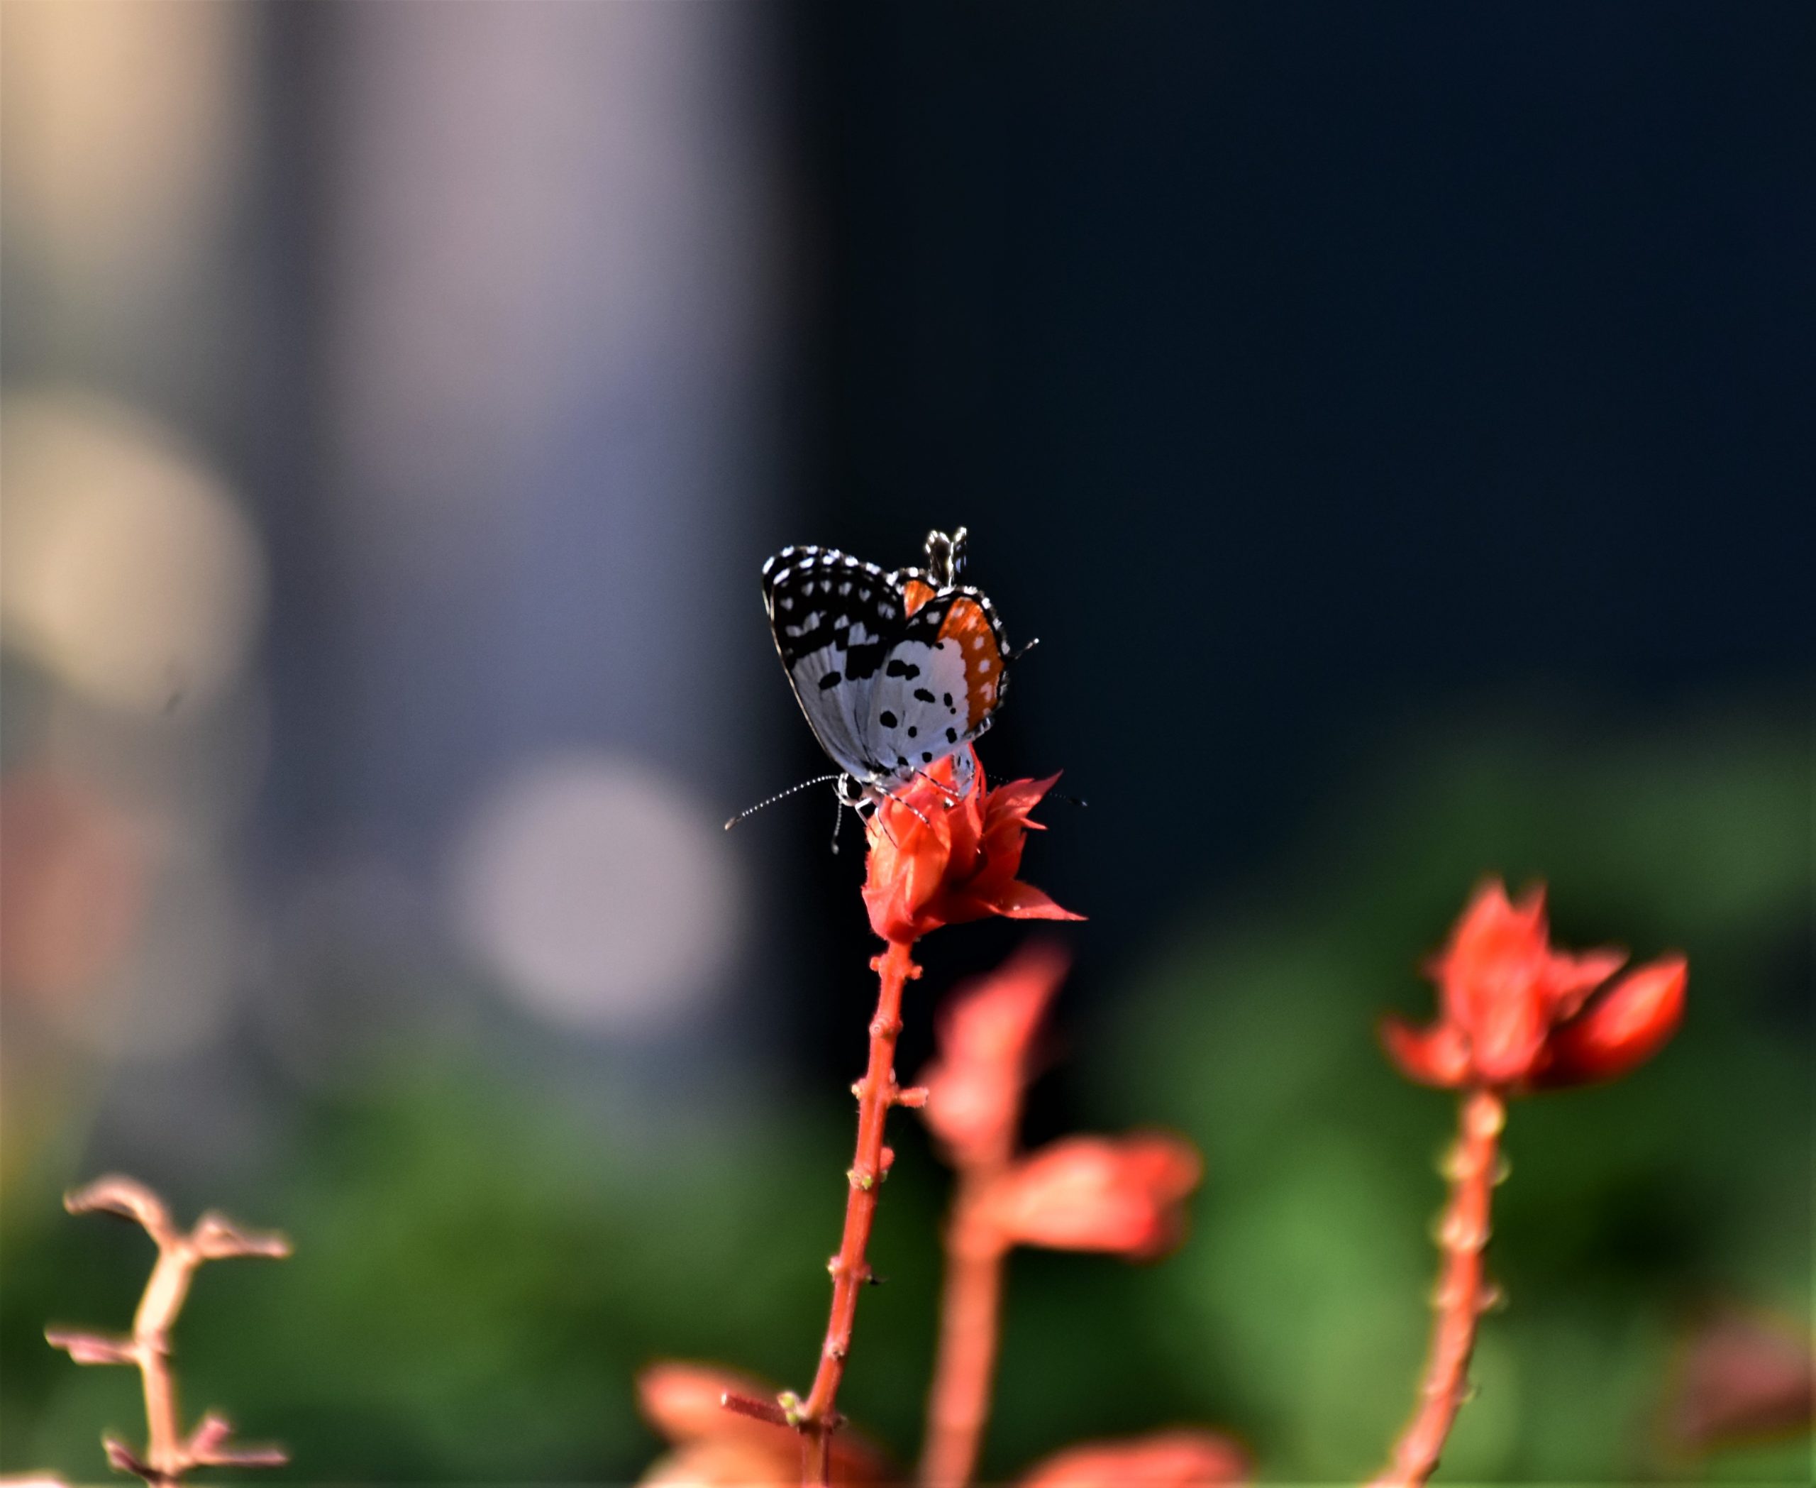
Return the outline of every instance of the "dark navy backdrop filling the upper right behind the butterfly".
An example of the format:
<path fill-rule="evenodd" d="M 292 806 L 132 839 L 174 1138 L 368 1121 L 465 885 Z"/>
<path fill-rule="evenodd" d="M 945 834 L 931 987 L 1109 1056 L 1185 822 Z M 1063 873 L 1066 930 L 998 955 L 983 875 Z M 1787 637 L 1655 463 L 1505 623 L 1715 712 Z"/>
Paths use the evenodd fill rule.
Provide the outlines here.
<path fill-rule="evenodd" d="M 1042 638 L 986 763 L 1110 805 L 1037 848 L 1093 943 L 1433 710 L 1801 696 L 1807 5 L 826 5 L 795 42 L 786 536 L 970 523 Z"/>

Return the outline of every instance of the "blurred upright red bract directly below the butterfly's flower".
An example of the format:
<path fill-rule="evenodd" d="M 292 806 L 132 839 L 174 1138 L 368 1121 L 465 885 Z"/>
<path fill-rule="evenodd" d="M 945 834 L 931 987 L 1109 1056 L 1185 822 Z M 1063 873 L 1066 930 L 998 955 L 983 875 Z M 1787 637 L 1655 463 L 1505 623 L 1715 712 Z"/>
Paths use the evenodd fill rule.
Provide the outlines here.
<path fill-rule="evenodd" d="M 1028 1047 L 1070 965 L 1059 947 L 1030 945 L 946 1008 L 939 1056 L 921 1085 L 923 1117 L 953 1166 L 1008 1161 L 1028 1083 Z"/>

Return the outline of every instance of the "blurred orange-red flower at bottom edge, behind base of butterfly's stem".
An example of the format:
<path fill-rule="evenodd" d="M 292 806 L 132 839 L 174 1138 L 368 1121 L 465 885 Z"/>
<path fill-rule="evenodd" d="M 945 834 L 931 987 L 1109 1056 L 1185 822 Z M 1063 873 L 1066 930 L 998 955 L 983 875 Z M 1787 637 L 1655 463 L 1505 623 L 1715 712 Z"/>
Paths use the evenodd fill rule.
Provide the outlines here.
<path fill-rule="evenodd" d="M 665 1361 L 637 1375 L 643 1417 L 676 1452 L 639 1479 L 643 1488 L 757 1488 L 801 1481 L 801 1435 L 725 1410 L 726 1395 L 772 1401 L 775 1386 L 716 1364 Z M 883 1483 L 893 1477 L 884 1455 L 850 1430 L 832 1439 L 834 1483 Z"/>

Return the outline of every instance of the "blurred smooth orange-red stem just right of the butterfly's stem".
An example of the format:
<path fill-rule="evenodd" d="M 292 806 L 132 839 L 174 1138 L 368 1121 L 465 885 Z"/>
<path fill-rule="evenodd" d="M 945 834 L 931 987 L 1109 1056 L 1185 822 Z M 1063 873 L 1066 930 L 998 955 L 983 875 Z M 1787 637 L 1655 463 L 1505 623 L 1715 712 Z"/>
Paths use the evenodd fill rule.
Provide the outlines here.
<path fill-rule="evenodd" d="M 946 1285 L 939 1312 L 939 1363 L 926 1401 L 923 1488 L 964 1488 L 990 1419 L 1008 1245 L 982 1214 L 990 1181 L 1008 1161 L 959 1174 L 946 1228 Z"/>

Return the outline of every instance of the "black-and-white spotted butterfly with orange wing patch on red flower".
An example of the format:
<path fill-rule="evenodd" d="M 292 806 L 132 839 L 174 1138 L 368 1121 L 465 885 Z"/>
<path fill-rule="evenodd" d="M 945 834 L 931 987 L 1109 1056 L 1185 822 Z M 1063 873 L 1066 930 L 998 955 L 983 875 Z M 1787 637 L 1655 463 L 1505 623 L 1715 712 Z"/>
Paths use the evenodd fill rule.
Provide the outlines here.
<path fill-rule="evenodd" d="M 1012 658 L 990 596 L 957 581 L 964 547 L 959 527 L 928 532 L 924 569 L 884 572 L 830 547 L 763 565 L 775 650 L 846 805 L 875 805 L 948 756 L 959 794 L 970 787 L 964 747 L 1002 707 Z"/>

